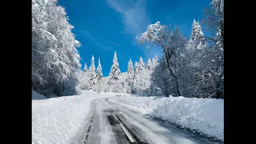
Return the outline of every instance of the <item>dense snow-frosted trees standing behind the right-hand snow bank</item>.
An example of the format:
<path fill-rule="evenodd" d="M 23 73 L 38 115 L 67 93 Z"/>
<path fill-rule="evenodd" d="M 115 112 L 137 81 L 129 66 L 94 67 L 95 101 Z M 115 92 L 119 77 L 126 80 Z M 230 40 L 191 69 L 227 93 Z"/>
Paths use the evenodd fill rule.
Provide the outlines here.
<path fill-rule="evenodd" d="M 152 74 L 153 87 L 160 93 L 224 99 L 224 0 L 213 0 L 205 8 L 202 23 L 207 35 L 194 20 L 189 40 L 179 29 L 158 21 L 136 37 L 147 48 L 158 45 L 163 49 L 164 57 Z"/>

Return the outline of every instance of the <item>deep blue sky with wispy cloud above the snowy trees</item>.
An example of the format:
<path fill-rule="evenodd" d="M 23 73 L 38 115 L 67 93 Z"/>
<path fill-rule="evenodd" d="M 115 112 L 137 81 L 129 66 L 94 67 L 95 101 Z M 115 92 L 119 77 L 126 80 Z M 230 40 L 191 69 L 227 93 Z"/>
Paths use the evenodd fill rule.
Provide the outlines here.
<path fill-rule="evenodd" d="M 75 28 L 73 33 L 82 46 L 78 48 L 82 69 L 86 62 L 90 67 L 94 55 L 95 66 L 101 59 L 104 76 L 108 76 L 114 52 L 121 72 L 127 71 L 130 58 L 144 62 L 148 58 L 160 57 L 160 48 L 140 46 L 135 37 L 144 32 L 149 24 L 179 26 L 181 32 L 189 37 L 192 21 L 200 22 L 203 8 L 212 0 L 59 0 L 66 9 L 69 23 Z"/>

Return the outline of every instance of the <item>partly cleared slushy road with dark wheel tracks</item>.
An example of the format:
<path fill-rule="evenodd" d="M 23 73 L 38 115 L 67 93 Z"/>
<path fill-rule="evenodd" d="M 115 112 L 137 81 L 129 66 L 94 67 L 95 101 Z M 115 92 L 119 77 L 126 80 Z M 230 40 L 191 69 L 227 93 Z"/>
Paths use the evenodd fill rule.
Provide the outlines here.
<path fill-rule="evenodd" d="M 113 103 L 108 97 L 91 101 L 85 121 L 87 123 L 76 133 L 71 144 L 131 143 L 120 124 L 123 124 L 137 144 L 211 143 L 176 126 Z"/>

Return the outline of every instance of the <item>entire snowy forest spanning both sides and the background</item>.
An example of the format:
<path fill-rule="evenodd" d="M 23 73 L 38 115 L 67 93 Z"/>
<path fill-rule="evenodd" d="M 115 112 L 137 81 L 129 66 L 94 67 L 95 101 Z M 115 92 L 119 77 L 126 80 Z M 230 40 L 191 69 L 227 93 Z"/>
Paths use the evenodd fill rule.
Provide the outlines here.
<path fill-rule="evenodd" d="M 184 96 L 224 99 L 224 0 L 213 0 L 204 19 L 192 21 L 189 39 L 177 28 L 150 24 L 136 40 L 157 45 L 163 57 L 144 63 L 130 59 L 120 72 L 114 53 L 109 76 L 103 77 L 100 59 L 96 69 L 80 69 L 77 48 L 64 8 L 56 0 L 32 0 L 32 88 L 45 96 L 79 94 L 80 90 L 138 93 L 149 96 Z M 205 26 L 205 31 L 202 26 Z M 204 32 L 203 32 L 204 31 Z M 159 59 L 159 60 L 158 60 Z"/>

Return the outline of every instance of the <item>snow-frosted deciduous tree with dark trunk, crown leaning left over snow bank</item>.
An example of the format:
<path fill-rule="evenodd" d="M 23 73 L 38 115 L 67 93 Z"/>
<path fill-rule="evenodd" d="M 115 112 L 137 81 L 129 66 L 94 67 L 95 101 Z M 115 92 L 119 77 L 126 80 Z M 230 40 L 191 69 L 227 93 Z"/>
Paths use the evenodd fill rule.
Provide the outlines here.
<path fill-rule="evenodd" d="M 159 45 L 165 53 L 165 59 L 171 76 L 174 79 L 176 96 L 181 96 L 179 79 L 189 66 L 189 58 L 187 55 L 187 39 L 181 34 L 179 29 L 171 30 L 171 26 L 160 25 L 157 21 L 150 24 L 147 31 L 136 37 L 140 44 L 147 43 L 148 47 Z M 148 48 L 147 47 L 147 48 Z"/>

